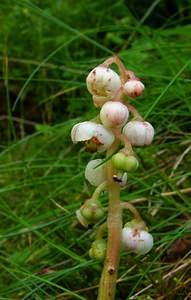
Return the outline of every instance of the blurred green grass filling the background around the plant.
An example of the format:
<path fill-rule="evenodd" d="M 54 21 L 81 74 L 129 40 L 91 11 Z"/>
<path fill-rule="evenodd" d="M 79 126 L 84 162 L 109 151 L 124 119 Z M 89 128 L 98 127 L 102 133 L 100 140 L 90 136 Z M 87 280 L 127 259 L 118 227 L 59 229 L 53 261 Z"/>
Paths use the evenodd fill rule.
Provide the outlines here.
<path fill-rule="evenodd" d="M 96 299 L 97 224 L 74 224 L 92 156 L 70 130 L 96 114 L 85 79 L 113 53 L 145 83 L 134 103 L 156 129 L 122 193 L 155 247 L 122 252 L 116 299 L 191 299 L 190 21 L 186 0 L 1 0 L 0 299 Z"/>

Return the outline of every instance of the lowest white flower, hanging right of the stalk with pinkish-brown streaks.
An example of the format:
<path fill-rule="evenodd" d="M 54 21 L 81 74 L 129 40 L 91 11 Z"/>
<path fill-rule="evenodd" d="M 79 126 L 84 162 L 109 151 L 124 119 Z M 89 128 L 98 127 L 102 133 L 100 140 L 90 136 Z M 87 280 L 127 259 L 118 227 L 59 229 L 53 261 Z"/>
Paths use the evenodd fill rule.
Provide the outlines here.
<path fill-rule="evenodd" d="M 122 245 L 125 249 L 137 254 L 146 254 L 153 247 L 153 237 L 145 230 L 124 227 Z"/>

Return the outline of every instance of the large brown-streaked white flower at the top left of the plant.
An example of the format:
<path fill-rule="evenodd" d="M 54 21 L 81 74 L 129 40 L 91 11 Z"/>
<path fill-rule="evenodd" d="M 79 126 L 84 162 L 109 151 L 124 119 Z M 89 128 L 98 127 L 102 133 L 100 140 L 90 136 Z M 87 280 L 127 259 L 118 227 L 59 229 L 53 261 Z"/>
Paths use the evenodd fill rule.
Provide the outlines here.
<path fill-rule="evenodd" d="M 121 87 L 121 79 L 119 75 L 110 68 L 96 67 L 88 75 L 86 79 L 87 88 L 90 94 L 113 98 Z"/>

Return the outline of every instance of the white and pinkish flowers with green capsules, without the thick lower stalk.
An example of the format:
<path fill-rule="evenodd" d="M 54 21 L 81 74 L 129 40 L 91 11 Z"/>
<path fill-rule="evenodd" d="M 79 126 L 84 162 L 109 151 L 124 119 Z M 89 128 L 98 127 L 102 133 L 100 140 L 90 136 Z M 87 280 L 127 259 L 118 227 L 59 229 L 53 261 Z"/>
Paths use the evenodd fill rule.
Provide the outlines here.
<path fill-rule="evenodd" d="M 143 93 L 145 87 L 132 71 L 126 70 L 118 61 L 116 57 L 110 58 L 94 68 L 87 76 L 87 89 L 92 95 L 93 104 L 99 109 L 99 115 L 93 120 L 74 125 L 71 138 L 73 143 L 84 143 L 91 152 L 105 152 L 117 142 L 118 151 L 109 159 L 114 170 L 113 180 L 124 187 L 127 184 L 128 173 L 136 171 L 139 167 L 132 146 L 150 145 L 154 137 L 154 128 L 143 120 L 132 105 L 126 103 L 126 97 L 133 100 Z M 117 64 L 119 74 L 111 69 L 110 65 L 113 63 Z M 104 216 L 98 198 L 99 193 L 107 189 L 106 165 L 104 159 L 98 158 L 89 161 L 86 166 L 85 178 L 91 185 L 97 187 L 98 191 L 95 191 L 96 196 L 92 196 L 76 212 L 79 222 L 85 227 Z M 96 250 L 97 244 L 99 250 Z M 137 225 L 133 227 L 127 225 L 122 231 L 122 244 L 125 249 L 145 254 L 152 248 L 153 239 L 146 227 L 140 229 Z M 90 256 L 102 259 L 103 253 L 100 254 L 100 249 L 105 253 L 102 238 L 100 243 L 94 242 Z"/>

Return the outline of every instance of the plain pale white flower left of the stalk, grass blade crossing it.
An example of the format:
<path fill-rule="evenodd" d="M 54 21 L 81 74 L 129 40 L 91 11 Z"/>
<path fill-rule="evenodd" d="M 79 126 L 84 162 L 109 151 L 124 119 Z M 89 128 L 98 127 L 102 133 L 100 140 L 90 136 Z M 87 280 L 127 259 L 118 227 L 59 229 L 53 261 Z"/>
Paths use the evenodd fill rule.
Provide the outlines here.
<path fill-rule="evenodd" d="M 94 159 L 91 160 L 86 166 L 85 178 L 94 186 L 100 185 L 107 179 L 106 165 L 105 163 L 101 164 L 102 162 L 102 159 Z"/>

